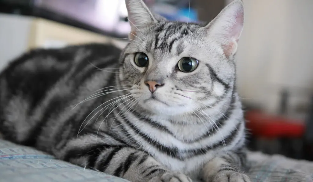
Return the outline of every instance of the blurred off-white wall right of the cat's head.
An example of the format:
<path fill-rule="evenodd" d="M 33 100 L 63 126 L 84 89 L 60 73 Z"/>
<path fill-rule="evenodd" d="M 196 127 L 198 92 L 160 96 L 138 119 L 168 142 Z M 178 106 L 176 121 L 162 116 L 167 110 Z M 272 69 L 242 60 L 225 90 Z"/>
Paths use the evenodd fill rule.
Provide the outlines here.
<path fill-rule="evenodd" d="M 243 1 L 240 95 L 269 112 L 277 111 L 285 86 L 292 88 L 291 107 L 308 101 L 313 94 L 313 0 Z"/>

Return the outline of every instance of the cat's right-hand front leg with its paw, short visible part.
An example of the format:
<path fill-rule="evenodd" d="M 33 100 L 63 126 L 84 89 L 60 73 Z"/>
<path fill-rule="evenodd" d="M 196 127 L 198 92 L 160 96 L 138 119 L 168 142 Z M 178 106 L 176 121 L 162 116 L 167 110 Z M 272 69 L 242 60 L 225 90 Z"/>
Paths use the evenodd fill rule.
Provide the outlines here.
<path fill-rule="evenodd" d="M 224 152 L 204 165 L 201 177 L 205 182 L 250 182 L 243 170 L 245 163 L 244 150 Z"/>

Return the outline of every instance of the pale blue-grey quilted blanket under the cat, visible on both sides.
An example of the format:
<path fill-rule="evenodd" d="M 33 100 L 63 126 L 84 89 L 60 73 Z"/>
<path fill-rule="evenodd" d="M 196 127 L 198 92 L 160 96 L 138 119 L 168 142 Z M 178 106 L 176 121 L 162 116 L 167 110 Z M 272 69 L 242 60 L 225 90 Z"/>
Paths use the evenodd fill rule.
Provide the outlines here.
<path fill-rule="evenodd" d="M 313 155 L 313 154 L 312 154 Z M 254 182 L 313 182 L 313 162 L 250 152 L 248 173 Z M 33 148 L 0 140 L 0 182 L 127 182 L 88 170 Z"/>

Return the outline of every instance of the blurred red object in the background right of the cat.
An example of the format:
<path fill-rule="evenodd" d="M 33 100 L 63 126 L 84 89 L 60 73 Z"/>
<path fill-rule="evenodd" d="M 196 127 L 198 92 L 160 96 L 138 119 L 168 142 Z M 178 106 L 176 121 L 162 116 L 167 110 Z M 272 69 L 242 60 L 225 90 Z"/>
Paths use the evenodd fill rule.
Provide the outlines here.
<path fill-rule="evenodd" d="M 281 116 L 271 116 L 260 111 L 247 111 L 245 114 L 247 128 L 252 135 L 266 138 L 299 138 L 304 135 L 303 121 L 292 120 Z"/>

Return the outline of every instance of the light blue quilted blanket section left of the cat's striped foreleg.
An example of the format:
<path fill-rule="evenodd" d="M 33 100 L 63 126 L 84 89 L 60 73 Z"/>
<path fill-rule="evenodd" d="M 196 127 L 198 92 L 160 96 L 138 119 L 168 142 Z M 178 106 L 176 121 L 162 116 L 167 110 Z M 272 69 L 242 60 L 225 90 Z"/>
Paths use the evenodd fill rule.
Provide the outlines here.
<path fill-rule="evenodd" d="M 0 182 L 128 182 L 0 140 Z"/>

